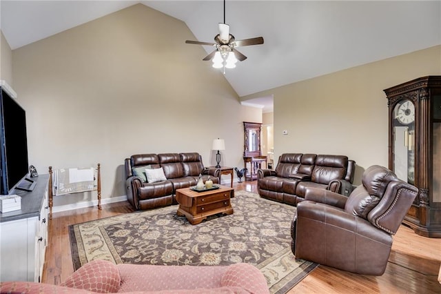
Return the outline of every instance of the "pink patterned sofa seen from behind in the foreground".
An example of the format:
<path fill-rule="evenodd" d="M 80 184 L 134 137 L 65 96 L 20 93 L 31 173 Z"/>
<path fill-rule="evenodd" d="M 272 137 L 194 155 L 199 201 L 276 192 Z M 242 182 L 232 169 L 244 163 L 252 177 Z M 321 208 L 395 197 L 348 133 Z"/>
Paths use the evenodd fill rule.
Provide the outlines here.
<path fill-rule="evenodd" d="M 269 293 L 264 275 L 249 264 L 155 266 L 85 264 L 61 285 L 1 282 L 1 293 Z"/>

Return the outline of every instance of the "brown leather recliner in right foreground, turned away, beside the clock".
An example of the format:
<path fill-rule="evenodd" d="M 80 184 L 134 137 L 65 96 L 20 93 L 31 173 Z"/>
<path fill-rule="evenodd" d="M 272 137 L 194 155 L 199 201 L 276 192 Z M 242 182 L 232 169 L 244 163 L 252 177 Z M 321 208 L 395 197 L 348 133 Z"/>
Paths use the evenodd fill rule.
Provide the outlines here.
<path fill-rule="evenodd" d="M 296 259 L 363 275 L 382 275 L 395 235 L 418 188 L 371 166 L 349 197 L 308 188 L 291 224 Z"/>

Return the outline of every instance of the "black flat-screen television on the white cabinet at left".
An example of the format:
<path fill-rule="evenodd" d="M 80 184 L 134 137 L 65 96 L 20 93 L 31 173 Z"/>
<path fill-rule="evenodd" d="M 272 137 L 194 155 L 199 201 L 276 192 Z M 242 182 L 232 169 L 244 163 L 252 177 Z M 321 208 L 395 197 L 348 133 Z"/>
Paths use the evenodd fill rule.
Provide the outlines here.
<path fill-rule="evenodd" d="M 28 137 L 26 113 L 8 92 L 0 86 L 0 194 L 14 189 L 32 190 L 35 182 L 28 178 Z"/>

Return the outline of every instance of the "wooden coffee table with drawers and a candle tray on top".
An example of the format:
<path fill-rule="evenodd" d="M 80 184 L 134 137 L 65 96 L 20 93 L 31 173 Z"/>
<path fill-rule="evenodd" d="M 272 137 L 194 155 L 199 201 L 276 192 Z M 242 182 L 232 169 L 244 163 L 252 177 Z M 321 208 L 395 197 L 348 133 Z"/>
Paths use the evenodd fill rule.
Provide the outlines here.
<path fill-rule="evenodd" d="M 200 224 L 209 215 L 233 213 L 231 197 L 234 189 L 218 185 L 216 190 L 196 192 L 190 188 L 176 190 L 176 201 L 179 204 L 177 215 L 185 215 L 190 224 Z"/>

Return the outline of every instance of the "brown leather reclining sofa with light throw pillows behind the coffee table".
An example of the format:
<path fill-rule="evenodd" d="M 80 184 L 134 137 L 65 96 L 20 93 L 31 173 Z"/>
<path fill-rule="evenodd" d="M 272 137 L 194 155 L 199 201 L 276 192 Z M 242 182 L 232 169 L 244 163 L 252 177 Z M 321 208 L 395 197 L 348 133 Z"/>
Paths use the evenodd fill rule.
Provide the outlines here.
<path fill-rule="evenodd" d="M 136 170 L 163 168 L 165 180 L 146 182 Z M 210 177 L 219 183 L 220 170 L 205 168 L 199 153 L 138 154 L 125 159 L 125 193 L 136 210 L 145 210 L 177 204 L 176 189 L 195 186 L 199 175 L 203 182 Z"/>

